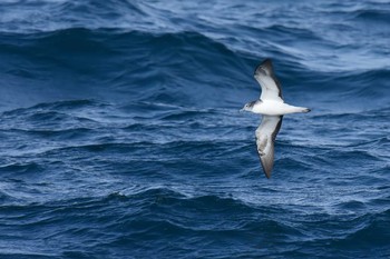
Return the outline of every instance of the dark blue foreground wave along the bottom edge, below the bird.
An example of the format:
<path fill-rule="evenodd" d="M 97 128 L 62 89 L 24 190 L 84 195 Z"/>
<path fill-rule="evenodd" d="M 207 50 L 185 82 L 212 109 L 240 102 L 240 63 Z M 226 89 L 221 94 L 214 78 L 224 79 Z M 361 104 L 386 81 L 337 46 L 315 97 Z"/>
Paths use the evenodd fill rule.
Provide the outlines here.
<path fill-rule="evenodd" d="M 364 206 L 362 206 L 361 202 L 349 201 L 342 209 L 355 211 L 359 207 L 359 211 L 363 212 Z M 274 242 L 289 243 L 290 247 L 282 247 L 274 251 L 274 255 L 292 255 L 292 251 L 311 255 L 319 246 L 331 250 L 354 251 L 370 247 L 373 238 L 378 245 L 376 255 L 383 255 L 387 251 L 388 233 L 378 235 L 378 231 L 381 231 L 383 223 L 387 223 L 388 211 L 376 216 L 348 216 L 343 219 L 340 218 L 343 216 L 300 215 L 290 220 L 285 218 L 287 221 L 284 221 L 283 217 L 281 219 L 277 216 L 270 219 L 270 211 L 267 212 L 269 208 L 265 206 L 254 208 L 253 205 L 218 196 L 188 196 L 165 187 L 135 189 L 127 193 L 126 191 L 125 193 L 111 192 L 96 198 L 58 200 L 46 205 L 3 208 L 17 213 L 21 220 L 25 219 L 20 222 L 19 231 L 29 229 L 36 232 L 45 227 L 48 230 L 39 237 L 46 240 L 46 243 L 53 245 L 57 240 L 69 236 L 89 243 L 91 251 L 96 250 L 97 246 L 105 249 L 127 247 L 133 250 L 139 246 L 144 249 L 157 246 L 158 250 L 167 252 L 174 248 L 188 249 L 191 243 L 202 241 L 209 243 L 209 253 L 214 255 L 218 252 L 220 242 L 228 242 L 237 248 L 241 241 L 247 238 L 255 238 L 257 246 L 264 249 L 271 248 Z M 99 213 L 98 217 L 95 216 L 96 212 Z M 277 210 L 272 213 L 277 215 Z M 64 215 L 67 217 L 65 218 Z M 263 218 L 264 216 L 266 217 Z M 203 219 L 202 225 L 199 219 Z M 3 223 L 6 222 L 8 228 L 18 227 L 7 225 L 8 220 L 11 218 L 3 218 Z M 74 220 L 78 223 L 71 223 Z M 331 229 L 334 220 L 338 222 L 344 220 L 345 225 L 333 231 Z M 311 231 L 313 226 L 316 226 L 315 236 Z M 119 231 L 123 228 L 127 231 Z M 333 231 L 331 238 L 328 238 L 329 231 Z M 106 241 L 94 241 L 96 236 L 105 237 Z M 170 240 L 179 241 L 181 245 L 172 247 L 158 237 L 169 237 Z M 354 246 L 357 242 L 361 245 L 359 248 Z M 67 251 L 68 246 L 75 245 L 76 240 L 68 240 L 58 248 L 59 251 Z M 257 246 L 250 242 L 250 247 L 246 245 L 247 252 L 259 255 Z M 25 252 L 28 255 L 27 251 Z M 146 255 L 145 251 L 138 252 Z M 194 250 L 189 249 L 187 252 L 192 253 Z M 264 255 L 269 252 L 264 251 Z M 226 252 L 225 256 L 233 256 L 233 253 Z"/>

